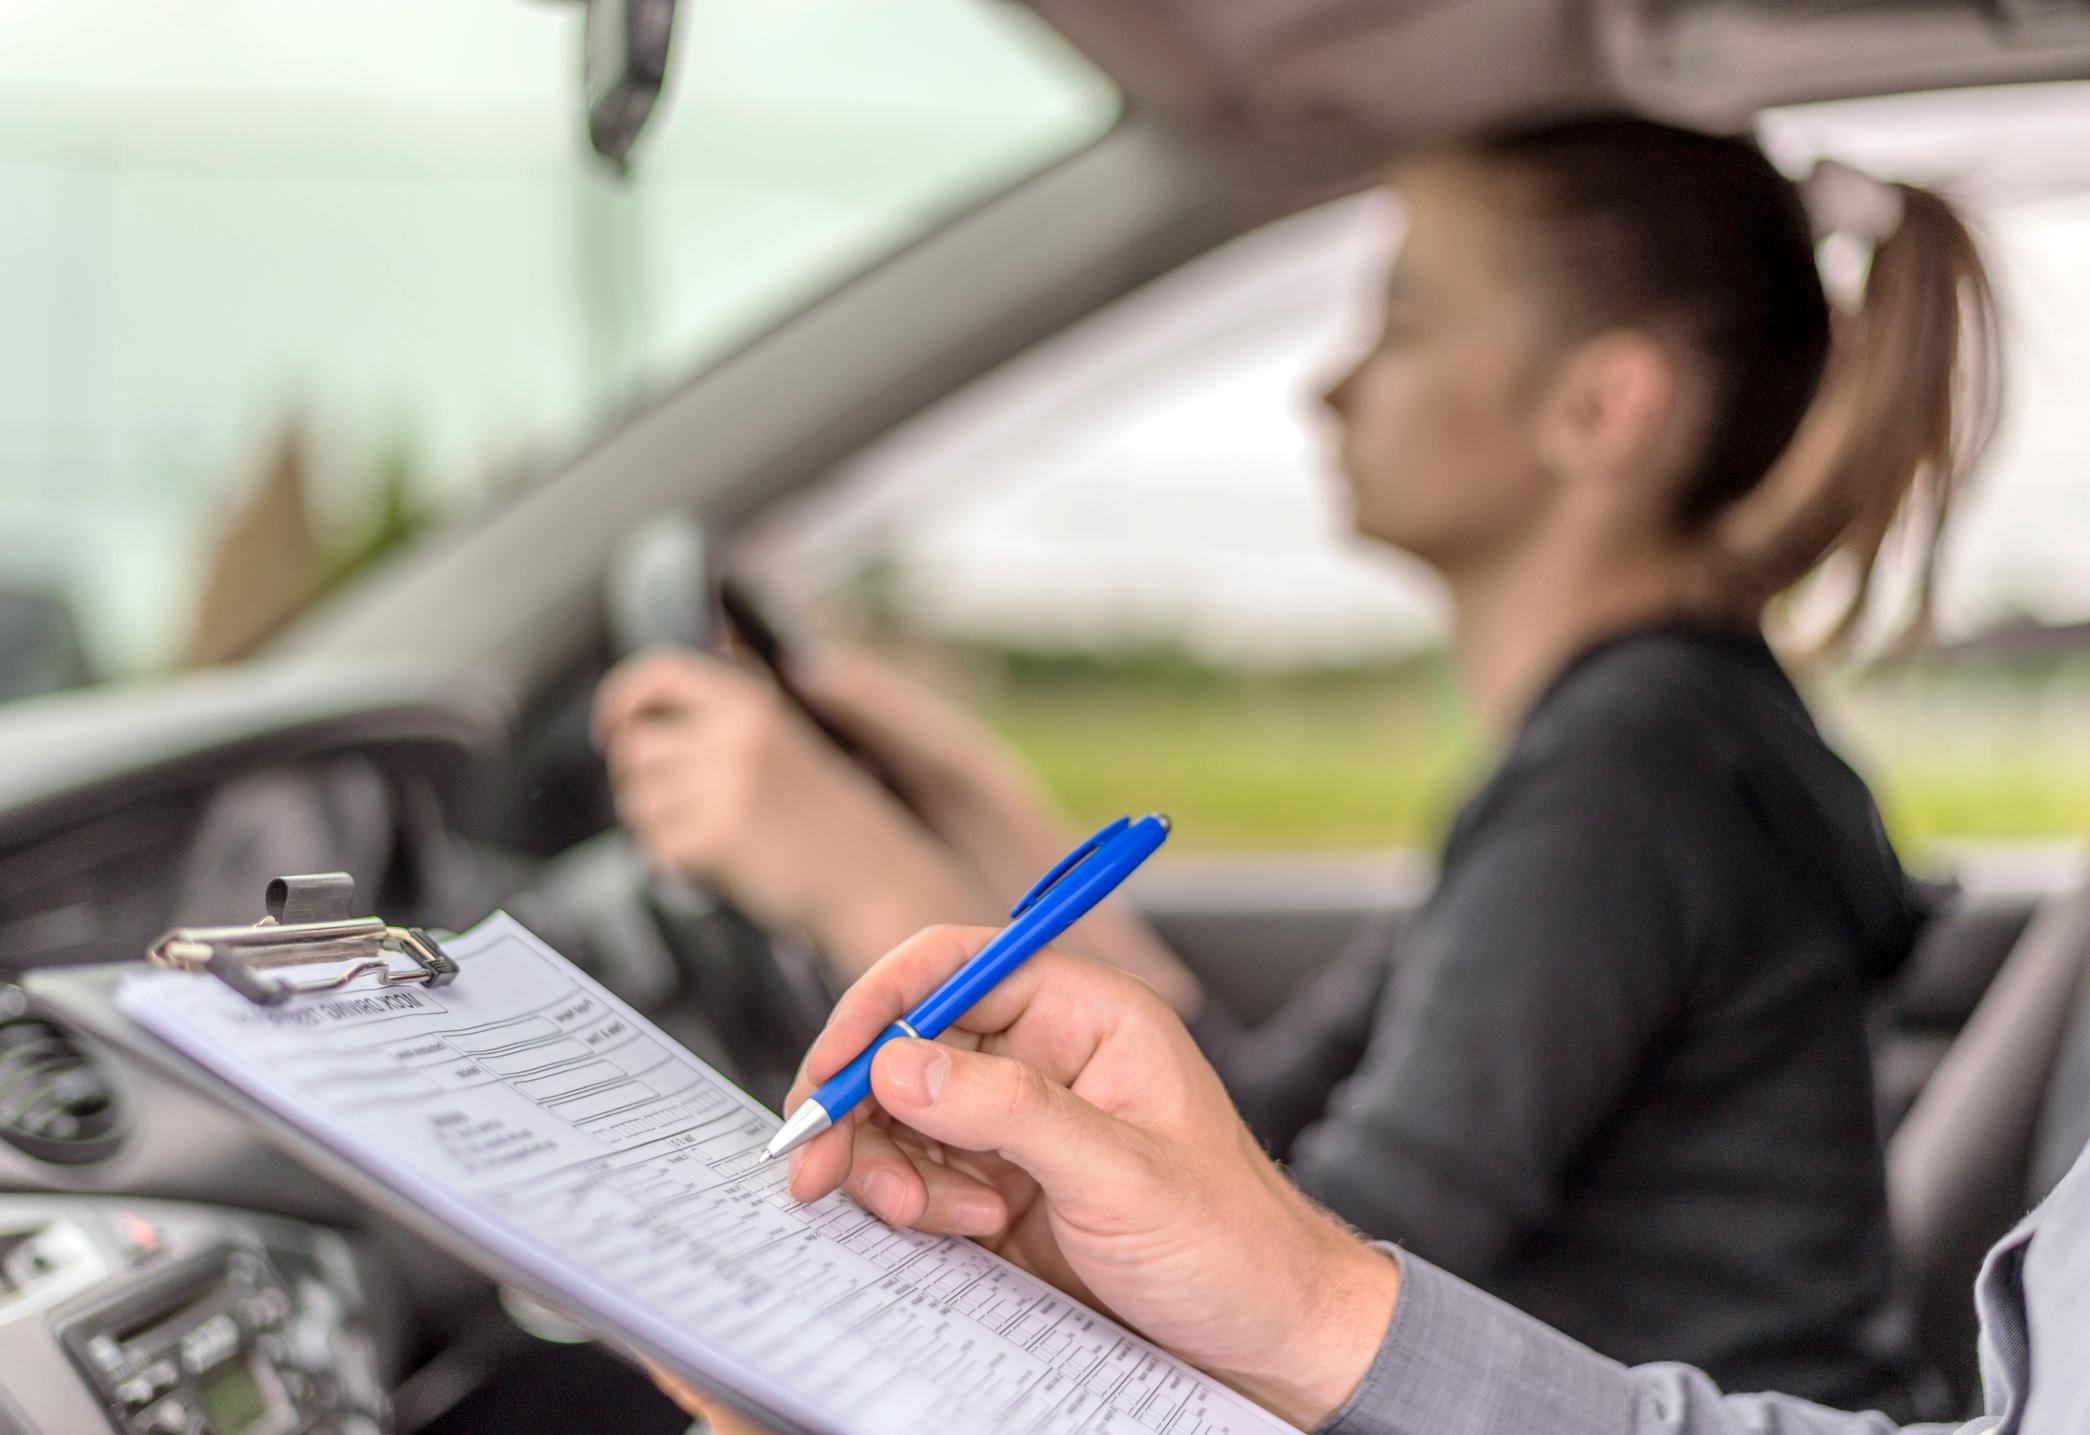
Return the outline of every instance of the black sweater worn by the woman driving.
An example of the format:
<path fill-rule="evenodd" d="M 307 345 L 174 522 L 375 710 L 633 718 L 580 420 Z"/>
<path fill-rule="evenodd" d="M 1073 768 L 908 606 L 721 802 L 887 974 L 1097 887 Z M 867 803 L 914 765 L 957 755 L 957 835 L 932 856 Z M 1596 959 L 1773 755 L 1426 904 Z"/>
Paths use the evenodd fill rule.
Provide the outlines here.
<path fill-rule="evenodd" d="M 1866 994 L 1923 909 L 1756 633 L 1553 681 L 1432 898 L 1200 1038 L 1317 1199 L 1626 1362 L 1910 1414 Z"/>

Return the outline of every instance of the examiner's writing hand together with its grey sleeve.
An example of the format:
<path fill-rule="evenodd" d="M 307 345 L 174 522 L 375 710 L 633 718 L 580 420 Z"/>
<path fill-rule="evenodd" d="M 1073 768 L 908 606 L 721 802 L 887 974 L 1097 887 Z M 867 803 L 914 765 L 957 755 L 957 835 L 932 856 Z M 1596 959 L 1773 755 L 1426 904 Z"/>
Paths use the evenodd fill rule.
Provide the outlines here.
<path fill-rule="evenodd" d="M 991 936 L 938 927 L 878 963 L 842 996 L 790 1101 Z M 872 1092 L 874 1105 L 792 1153 L 792 1195 L 846 1184 L 892 1222 L 970 1234 L 1302 1429 L 1896 1429 L 1785 1395 L 1720 1395 L 1680 1366 L 1628 1370 L 1365 1245 L 1256 1147 L 1168 1007 L 1099 963 L 1032 957 L 945 1040 L 888 1042 Z"/>

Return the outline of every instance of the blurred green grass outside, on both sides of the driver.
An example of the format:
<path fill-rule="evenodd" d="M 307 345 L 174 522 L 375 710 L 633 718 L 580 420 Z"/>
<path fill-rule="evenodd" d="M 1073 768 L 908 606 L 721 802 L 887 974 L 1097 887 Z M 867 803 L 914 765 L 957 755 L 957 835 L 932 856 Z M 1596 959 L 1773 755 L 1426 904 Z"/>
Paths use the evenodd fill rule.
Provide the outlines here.
<path fill-rule="evenodd" d="M 2027 706 L 2034 708 L 2027 714 Z M 1896 844 L 2090 836 L 2090 702 L 1839 702 Z M 984 716 L 1081 821 L 1160 808 L 1183 848 L 1436 846 L 1486 754 L 1442 679 L 1020 681 Z"/>

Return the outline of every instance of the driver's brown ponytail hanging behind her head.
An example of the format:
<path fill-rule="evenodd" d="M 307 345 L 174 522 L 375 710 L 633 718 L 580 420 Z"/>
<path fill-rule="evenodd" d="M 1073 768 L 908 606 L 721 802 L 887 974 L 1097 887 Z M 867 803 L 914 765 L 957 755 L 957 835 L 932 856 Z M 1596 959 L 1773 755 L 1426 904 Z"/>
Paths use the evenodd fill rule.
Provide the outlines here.
<path fill-rule="evenodd" d="M 1822 566 L 1841 581 L 1822 650 L 1858 635 L 1898 524 L 1919 566 L 1894 641 L 1927 631 L 1946 531 L 2002 411 L 2000 317 L 1975 238 L 1944 196 L 1891 188 L 1902 219 L 1873 251 L 1856 311 L 1835 317 L 1820 397 L 1776 468 L 1720 520 L 1745 602 Z"/>

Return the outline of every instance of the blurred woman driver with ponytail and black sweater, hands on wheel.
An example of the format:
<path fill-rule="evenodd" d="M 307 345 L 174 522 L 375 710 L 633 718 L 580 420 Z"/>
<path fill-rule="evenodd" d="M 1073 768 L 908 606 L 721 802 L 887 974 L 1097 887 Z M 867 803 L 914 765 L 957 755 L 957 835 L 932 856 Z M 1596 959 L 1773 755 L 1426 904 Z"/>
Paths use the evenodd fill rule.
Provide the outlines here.
<path fill-rule="evenodd" d="M 1902 518 L 1927 604 L 1994 416 L 1979 255 L 1925 190 L 1804 194 L 1754 142 L 1639 119 L 1448 146 L 1396 188 L 1384 336 L 1327 403 L 1358 531 L 1444 581 L 1501 762 L 1407 927 L 1258 1032 L 1122 913 L 1074 944 L 1193 1017 L 1365 1232 L 1626 1362 L 1906 1412 L 1864 1011 L 1923 911 L 1760 625 L 1829 564 L 1848 635 Z M 1843 311 L 1810 196 L 1873 244 Z M 652 656 L 598 719 L 656 861 L 851 978 L 1064 850 L 957 714 L 861 660 L 803 681 L 926 827 L 752 679 Z M 631 721 L 658 706 L 681 719 Z"/>

